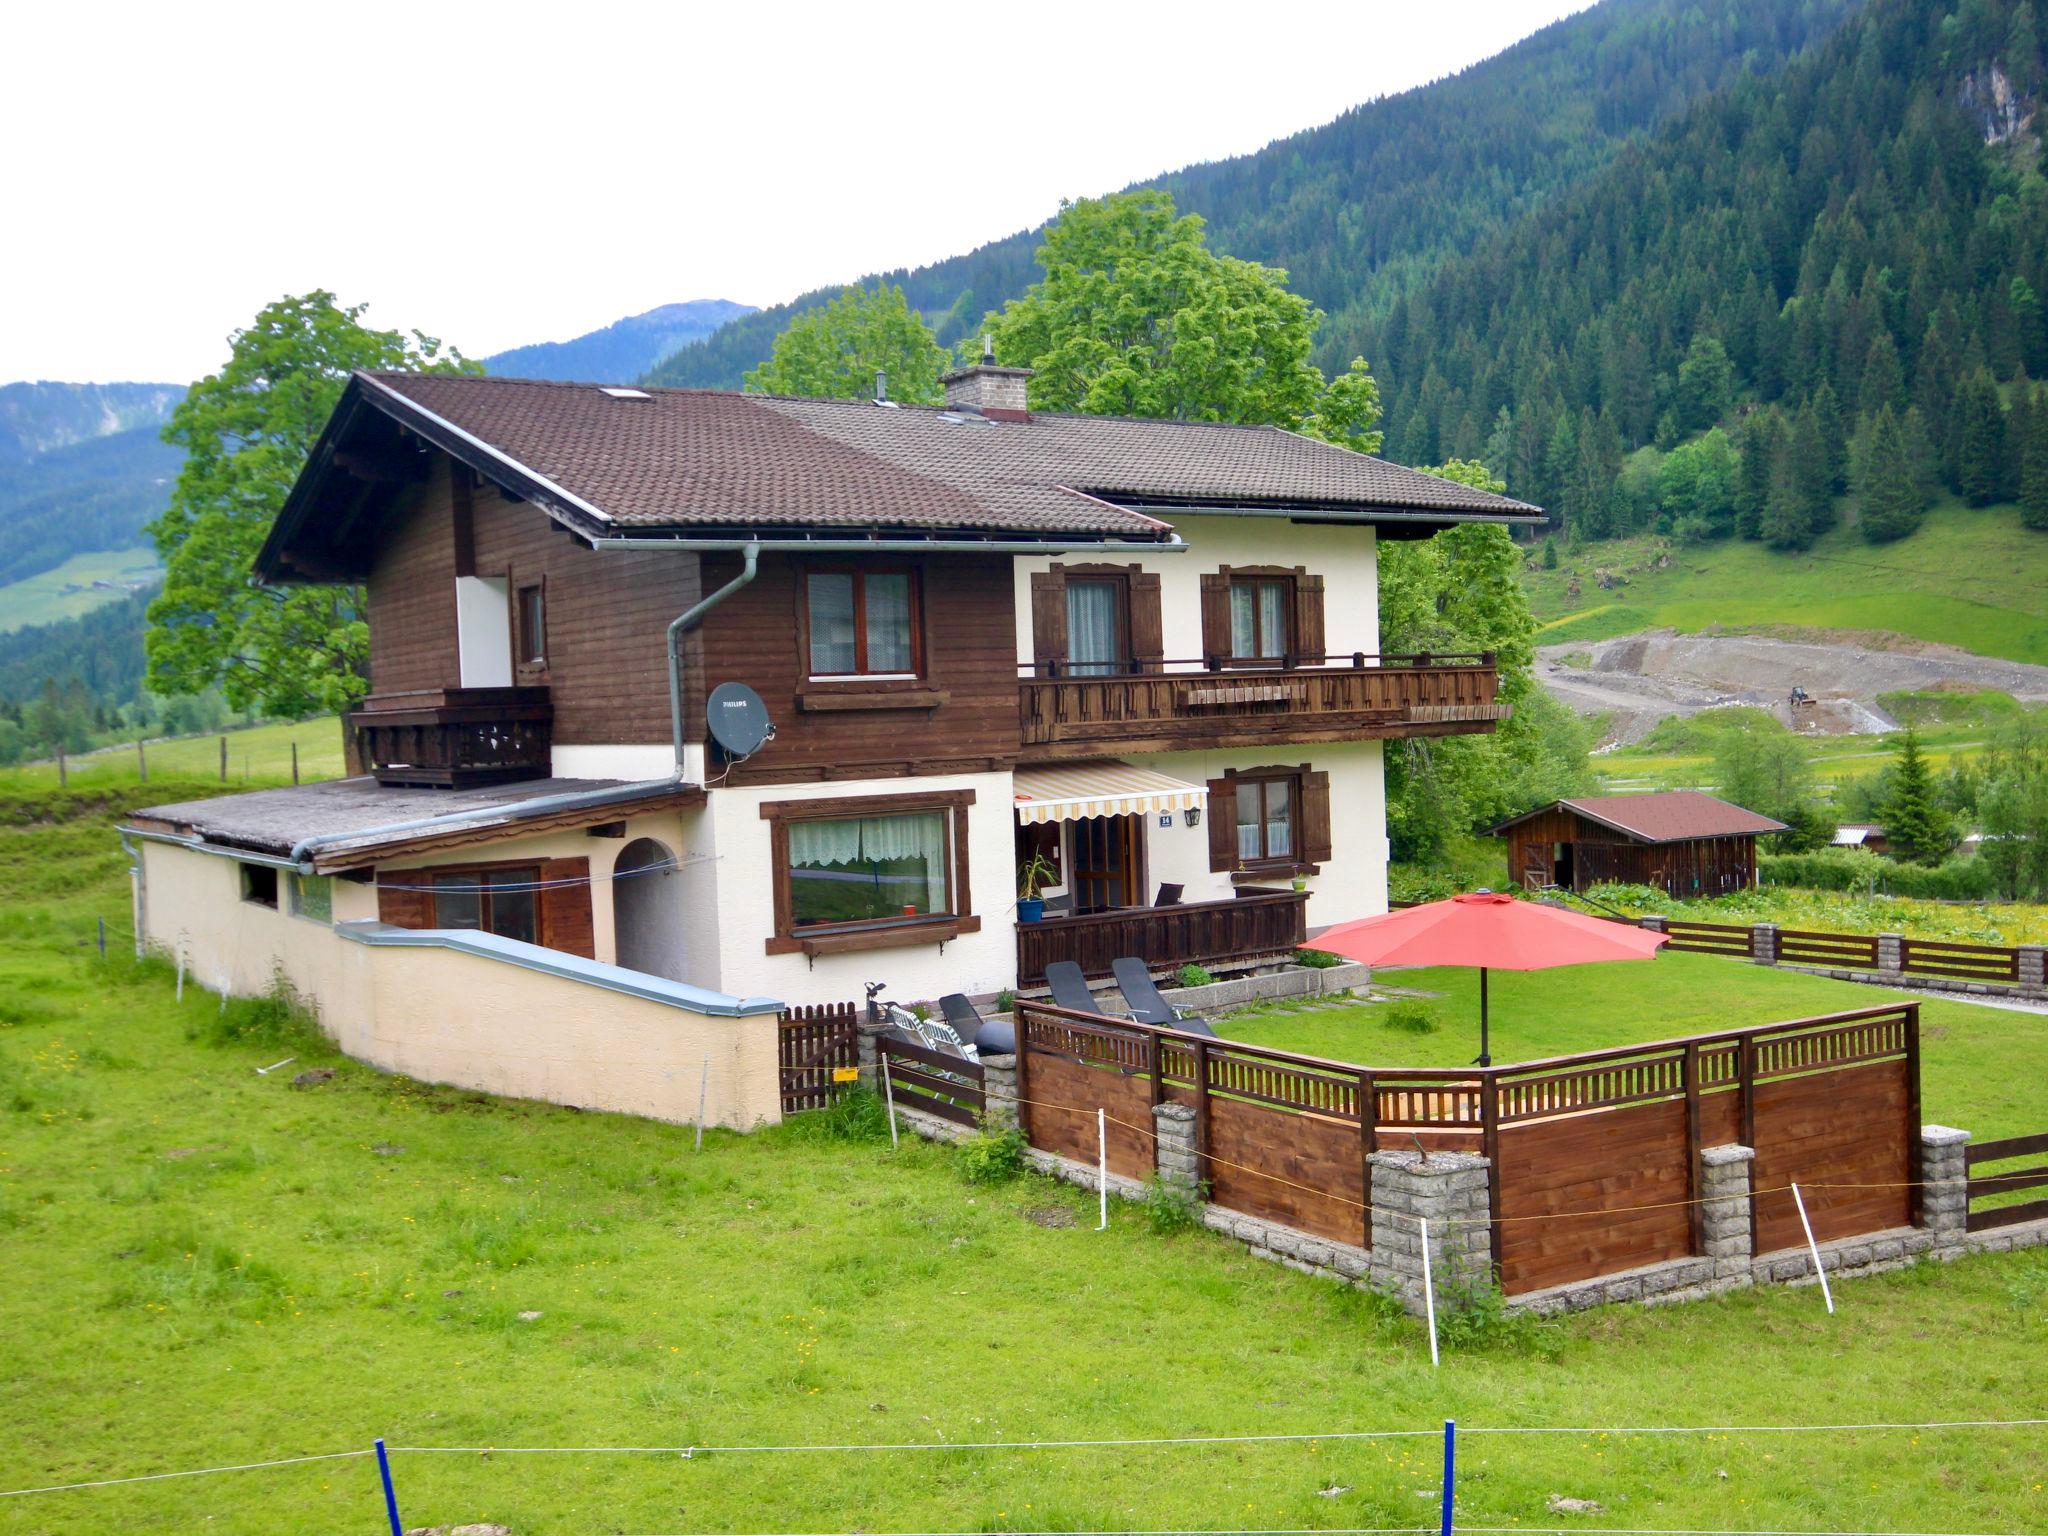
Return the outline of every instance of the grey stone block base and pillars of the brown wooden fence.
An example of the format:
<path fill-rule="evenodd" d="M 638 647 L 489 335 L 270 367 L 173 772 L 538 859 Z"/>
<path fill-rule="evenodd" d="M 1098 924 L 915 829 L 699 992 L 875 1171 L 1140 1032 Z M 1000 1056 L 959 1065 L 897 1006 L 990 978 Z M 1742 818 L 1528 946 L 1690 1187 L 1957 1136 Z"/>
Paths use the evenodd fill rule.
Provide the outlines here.
<path fill-rule="evenodd" d="M 983 1057 L 987 1073 L 989 1118 L 1016 1122 L 1016 1057 Z M 961 1141 L 965 1126 L 915 1110 L 897 1110 L 907 1130 L 930 1141 Z M 1194 1112 L 1182 1104 L 1161 1104 L 1153 1110 L 1157 1126 L 1157 1169 L 1165 1184 L 1192 1186 L 1198 1180 L 1200 1149 L 1194 1145 Z M 1894 1227 L 1860 1237 L 1821 1243 L 1821 1264 L 1829 1280 L 1837 1276 L 1882 1274 L 1903 1270 L 1921 1260 L 1954 1260 L 1964 1253 L 1993 1253 L 2015 1247 L 2048 1247 L 2048 1221 L 1968 1231 L 1968 1153 L 1970 1133 L 1929 1124 L 1921 1128 L 1921 1225 Z M 1053 1178 L 1096 1188 L 1096 1165 L 1059 1157 L 1032 1147 L 1032 1167 Z M 1702 1253 L 1638 1270 L 1573 1280 L 1546 1290 L 1528 1290 L 1507 1298 L 1513 1311 L 1540 1317 L 1585 1311 L 1610 1303 L 1663 1305 L 1700 1300 L 1726 1290 L 1761 1284 L 1815 1284 L 1812 1257 L 1804 1247 L 1778 1253 L 1753 1253 L 1749 1241 L 1749 1171 L 1755 1151 L 1749 1147 L 1706 1147 L 1702 1165 Z M 1430 1278 L 1438 1305 L 1450 1286 L 1470 1282 L 1489 1268 L 1491 1196 L 1489 1165 L 1475 1153 L 1380 1151 L 1372 1153 L 1372 1247 L 1356 1247 L 1329 1237 L 1317 1237 L 1276 1221 L 1247 1217 L 1219 1204 L 1202 1206 L 1202 1225 L 1212 1233 L 1245 1245 L 1253 1257 L 1284 1264 L 1303 1274 L 1321 1274 L 1346 1284 L 1399 1296 L 1401 1305 L 1423 1315 L 1423 1223 L 1430 1233 Z M 1110 1174 L 1110 1194 L 1122 1200 L 1143 1200 L 1145 1182 Z"/>

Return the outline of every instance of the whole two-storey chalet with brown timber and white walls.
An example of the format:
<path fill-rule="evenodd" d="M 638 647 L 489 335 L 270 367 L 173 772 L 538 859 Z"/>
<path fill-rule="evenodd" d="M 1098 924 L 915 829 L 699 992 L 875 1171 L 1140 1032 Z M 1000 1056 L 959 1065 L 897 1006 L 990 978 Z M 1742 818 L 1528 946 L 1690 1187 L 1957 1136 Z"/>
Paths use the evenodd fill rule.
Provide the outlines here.
<path fill-rule="evenodd" d="M 358 373 L 256 559 L 367 588 L 358 776 L 133 817 L 137 932 L 383 1065 L 690 1118 L 778 1006 L 1229 971 L 1384 911 L 1382 743 L 1503 709 L 1491 657 L 1378 655 L 1376 541 L 1536 508 L 1026 379 Z"/>

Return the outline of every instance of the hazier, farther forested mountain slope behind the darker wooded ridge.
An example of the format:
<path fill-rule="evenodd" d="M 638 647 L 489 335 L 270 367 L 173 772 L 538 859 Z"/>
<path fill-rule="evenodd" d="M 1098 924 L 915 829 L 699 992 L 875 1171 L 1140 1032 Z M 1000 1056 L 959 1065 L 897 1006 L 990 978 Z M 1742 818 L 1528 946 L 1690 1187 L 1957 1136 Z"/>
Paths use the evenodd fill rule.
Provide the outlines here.
<path fill-rule="evenodd" d="M 1702 94 L 1827 37 L 1853 0 L 1608 0 L 1448 80 L 1358 106 L 1257 154 L 1153 178 L 1210 244 L 1288 268 L 1329 319 L 1337 371 L 1366 324 L 1450 252 L 1544 205 Z M 1051 213 L 1051 211 L 1049 211 Z M 883 272 L 950 342 L 1038 274 L 1038 231 Z M 809 293 L 719 328 L 647 377 L 733 389 Z M 1378 362 L 1378 358 L 1372 358 Z"/>

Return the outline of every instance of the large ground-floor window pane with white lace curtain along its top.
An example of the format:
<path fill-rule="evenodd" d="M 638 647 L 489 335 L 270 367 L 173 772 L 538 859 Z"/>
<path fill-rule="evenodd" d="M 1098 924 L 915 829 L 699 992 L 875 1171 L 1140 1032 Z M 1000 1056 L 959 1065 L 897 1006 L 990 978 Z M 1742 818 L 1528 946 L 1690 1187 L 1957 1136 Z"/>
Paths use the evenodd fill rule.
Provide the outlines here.
<path fill-rule="evenodd" d="M 946 813 L 788 823 L 793 928 L 952 911 Z"/>

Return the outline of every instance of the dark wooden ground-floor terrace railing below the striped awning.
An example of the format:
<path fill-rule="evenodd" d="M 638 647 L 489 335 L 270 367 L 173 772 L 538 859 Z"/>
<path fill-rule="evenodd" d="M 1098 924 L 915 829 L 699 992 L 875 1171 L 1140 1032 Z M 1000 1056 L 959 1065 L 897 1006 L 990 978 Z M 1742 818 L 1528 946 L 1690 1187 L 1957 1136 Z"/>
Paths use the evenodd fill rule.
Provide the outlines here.
<path fill-rule="evenodd" d="M 1307 891 L 1243 891 L 1227 901 L 1116 907 L 1018 924 L 1018 985 L 1042 987 L 1053 961 L 1073 961 L 1087 977 L 1110 975 L 1110 961 L 1124 954 L 1153 971 L 1270 961 L 1309 936 L 1307 907 Z"/>

